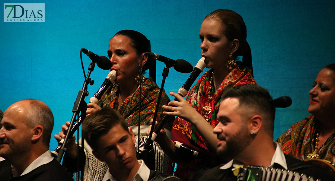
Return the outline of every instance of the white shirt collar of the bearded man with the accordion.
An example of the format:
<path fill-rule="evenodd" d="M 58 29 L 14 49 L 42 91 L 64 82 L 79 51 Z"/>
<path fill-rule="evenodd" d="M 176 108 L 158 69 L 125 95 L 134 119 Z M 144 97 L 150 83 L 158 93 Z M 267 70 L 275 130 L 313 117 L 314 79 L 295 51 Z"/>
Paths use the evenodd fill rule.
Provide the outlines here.
<path fill-rule="evenodd" d="M 269 167 L 272 166 L 274 163 L 277 163 L 280 166 L 282 166 L 285 170 L 287 170 L 285 155 L 280 150 L 278 143 L 277 142 L 274 142 L 274 143 L 276 143 L 277 147 L 276 147 L 276 151 L 274 152 L 274 154 L 272 156 L 271 163 L 270 163 Z M 237 168 L 238 165 L 242 165 L 242 164 L 239 161 L 231 160 L 230 162 L 228 162 L 225 165 L 223 165 L 222 167 L 220 167 L 220 169 L 225 170 L 225 169 L 230 168 L 231 166 L 233 166 L 234 168 Z"/>

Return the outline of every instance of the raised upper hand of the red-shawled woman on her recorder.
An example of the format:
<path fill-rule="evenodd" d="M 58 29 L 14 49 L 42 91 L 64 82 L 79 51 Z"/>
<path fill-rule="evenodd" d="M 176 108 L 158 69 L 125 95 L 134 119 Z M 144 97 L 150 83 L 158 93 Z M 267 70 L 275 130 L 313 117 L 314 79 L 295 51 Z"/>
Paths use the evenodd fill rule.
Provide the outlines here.
<path fill-rule="evenodd" d="M 192 123 L 195 123 L 194 121 L 197 121 L 197 118 L 202 118 L 197 110 L 195 110 L 181 95 L 175 92 L 170 92 L 170 95 L 175 96 L 179 101 L 173 100 L 169 102 L 169 106 L 163 105 L 163 109 L 172 111 L 164 111 L 163 114 L 179 116 Z"/>

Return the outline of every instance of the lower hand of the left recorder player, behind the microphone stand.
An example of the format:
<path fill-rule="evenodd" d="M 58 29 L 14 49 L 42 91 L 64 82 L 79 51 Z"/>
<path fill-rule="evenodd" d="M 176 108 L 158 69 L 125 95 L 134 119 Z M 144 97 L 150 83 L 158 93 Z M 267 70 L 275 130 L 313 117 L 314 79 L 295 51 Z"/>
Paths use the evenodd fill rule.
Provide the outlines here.
<path fill-rule="evenodd" d="M 67 121 L 65 124 L 62 125 L 62 131 L 59 132 L 58 134 L 55 134 L 54 137 L 55 139 L 59 142 L 61 139 L 64 139 L 66 136 L 66 133 L 69 129 L 70 126 L 70 121 Z M 70 138 L 67 141 L 67 144 L 65 146 L 66 153 L 69 155 L 70 158 L 75 159 L 77 158 L 77 145 L 75 144 L 76 136 L 72 135 L 72 138 Z"/>

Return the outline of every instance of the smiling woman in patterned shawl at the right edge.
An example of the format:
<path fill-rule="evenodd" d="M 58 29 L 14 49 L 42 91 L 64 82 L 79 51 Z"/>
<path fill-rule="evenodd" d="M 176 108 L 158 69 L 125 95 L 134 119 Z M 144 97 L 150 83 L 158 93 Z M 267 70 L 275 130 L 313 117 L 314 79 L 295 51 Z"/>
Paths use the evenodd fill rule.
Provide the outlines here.
<path fill-rule="evenodd" d="M 297 159 L 335 164 L 335 64 L 319 72 L 309 93 L 312 115 L 294 123 L 277 142 L 284 154 Z"/>

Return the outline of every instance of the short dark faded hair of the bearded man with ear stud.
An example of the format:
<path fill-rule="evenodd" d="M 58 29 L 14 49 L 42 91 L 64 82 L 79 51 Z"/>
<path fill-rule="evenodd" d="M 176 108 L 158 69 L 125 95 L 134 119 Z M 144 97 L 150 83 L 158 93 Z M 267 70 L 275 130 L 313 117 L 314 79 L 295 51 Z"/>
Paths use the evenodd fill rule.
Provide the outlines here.
<path fill-rule="evenodd" d="M 273 136 L 276 108 L 268 90 L 255 84 L 227 87 L 222 92 L 221 101 L 229 97 L 238 98 L 239 107 L 243 106 L 260 114 L 265 130 Z"/>

